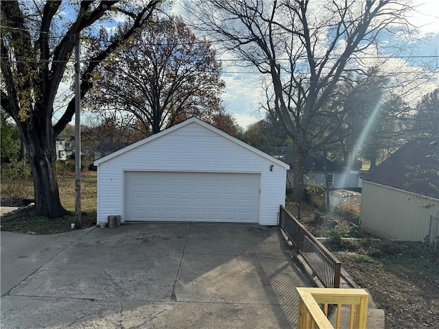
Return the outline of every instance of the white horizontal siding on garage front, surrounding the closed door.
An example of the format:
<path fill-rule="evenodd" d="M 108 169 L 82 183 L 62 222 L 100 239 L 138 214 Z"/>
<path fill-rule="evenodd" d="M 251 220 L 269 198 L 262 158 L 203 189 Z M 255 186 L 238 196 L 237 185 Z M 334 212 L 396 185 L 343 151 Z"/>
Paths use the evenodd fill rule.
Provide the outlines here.
<path fill-rule="evenodd" d="M 270 171 L 270 166 L 272 170 Z M 276 225 L 285 204 L 286 170 L 241 145 L 189 123 L 99 164 L 97 223 L 122 215 L 124 171 L 260 173 L 259 223 Z"/>

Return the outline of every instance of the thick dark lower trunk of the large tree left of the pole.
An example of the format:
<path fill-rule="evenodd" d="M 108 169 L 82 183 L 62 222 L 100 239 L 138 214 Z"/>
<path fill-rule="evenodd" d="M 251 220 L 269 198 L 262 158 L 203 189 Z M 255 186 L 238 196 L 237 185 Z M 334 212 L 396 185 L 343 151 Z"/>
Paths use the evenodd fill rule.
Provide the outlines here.
<path fill-rule="evenodd" d="M 56 136 L 51 124 L 40 125 L 40 129 L 24 124 L 22 134 L 34 178 L 35 215 L 65 215 L 67 210 L 61 205 L 56 178 Z"/>

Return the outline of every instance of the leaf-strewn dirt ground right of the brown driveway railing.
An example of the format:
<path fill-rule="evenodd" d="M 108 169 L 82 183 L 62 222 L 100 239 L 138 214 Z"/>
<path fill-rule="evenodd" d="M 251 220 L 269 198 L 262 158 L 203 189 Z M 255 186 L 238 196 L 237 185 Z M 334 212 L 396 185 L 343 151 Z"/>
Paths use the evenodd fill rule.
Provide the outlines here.
<path fill-rule="evenodd" d="M 295 204 L 287 204 L 298 215 Z M 367 236 L 334 215 L 330 225 L 316 221 L 316 208 L 302 204 L 300 222 L 315 236 Z M 372 238 L 372 236 L 368 236 Z M 340 241 L 342 241 L 340 243 Z M 439 257 L 422 243 L 327 239 L 324 243 L 377 307 L 385 310 L 385 328 L 439 328 Z"/>

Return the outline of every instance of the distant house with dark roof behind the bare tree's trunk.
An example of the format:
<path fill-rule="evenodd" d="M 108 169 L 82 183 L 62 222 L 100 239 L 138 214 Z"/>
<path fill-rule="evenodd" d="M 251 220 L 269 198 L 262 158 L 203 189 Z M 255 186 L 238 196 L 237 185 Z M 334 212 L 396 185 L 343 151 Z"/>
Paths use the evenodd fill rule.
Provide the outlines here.
<path fill-rule="evenodd" d="M 293 163 L 292 147 L 276 147 L 272 150 L 274 158 L 287 164 Z M 305 177 L 303 184 L 326 186 L 324 182 L 324 158 L 322 156 L 305 157 Z M 361 171 L 340 166 L 331 160 L 326 160 L 329 188 L 361 188 L 359 175 Z M 293 182 L 293 172 L 288 171 L 288 186 Z"/>

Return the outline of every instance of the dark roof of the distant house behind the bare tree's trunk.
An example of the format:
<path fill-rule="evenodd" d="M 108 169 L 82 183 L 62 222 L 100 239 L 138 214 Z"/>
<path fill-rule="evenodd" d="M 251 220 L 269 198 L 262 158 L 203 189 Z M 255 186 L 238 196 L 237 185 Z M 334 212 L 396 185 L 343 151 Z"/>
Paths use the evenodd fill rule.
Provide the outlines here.
<path fill-rule="evenodd" d="M 282 160 L 287 164 L 293 163 L 293 148 L 292 147 L 275 147 L 272 150 L 272 154 L 275 158 Z M 329 159 L 326 161 L 327 169 L 331 172 L 342 172 L 346 169 L 340 164 L 337 164 Z M 324 171 L 324 157 L 323 156 L 313 156 L 307 154 L 305 156 L 305 170 L 306 171 Z"/>

